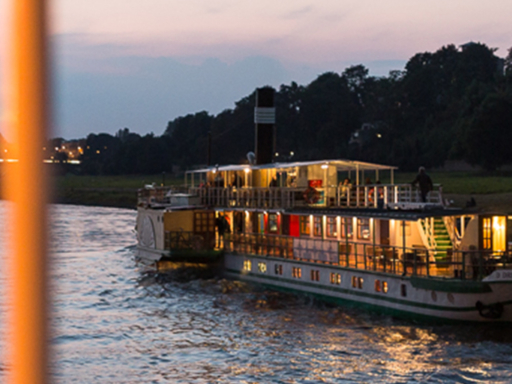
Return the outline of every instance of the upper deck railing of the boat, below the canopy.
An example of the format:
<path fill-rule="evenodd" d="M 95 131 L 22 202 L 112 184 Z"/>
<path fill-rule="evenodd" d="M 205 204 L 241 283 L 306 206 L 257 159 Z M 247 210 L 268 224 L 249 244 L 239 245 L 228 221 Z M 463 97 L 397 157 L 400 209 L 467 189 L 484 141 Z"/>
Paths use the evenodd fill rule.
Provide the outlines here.
<path fill-rule="evenodd" d="M 375 184 L 308 189 L 276 188 L 218 188 L 218 187 L 150 187 L 139 190 L 138 202 L 169 204 L 172 193 L 188 193 L 200 197 L 203 205 L 222 208 L 285 209 L 294 207 L 383 208 L 393 204 L 421 203 L 419 192 L 410 184 Z M 427 197 L 427 203 L 443 204 L 442 188 L 437 187 Z"/>

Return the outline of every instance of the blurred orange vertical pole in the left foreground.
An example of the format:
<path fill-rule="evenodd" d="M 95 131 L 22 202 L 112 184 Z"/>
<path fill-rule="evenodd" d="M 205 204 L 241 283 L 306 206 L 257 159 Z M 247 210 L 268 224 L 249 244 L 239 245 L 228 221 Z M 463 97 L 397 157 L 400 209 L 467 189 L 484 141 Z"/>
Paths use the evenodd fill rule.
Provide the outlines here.
<path fill-rule="evenodd" d="M 7 94 L 8 127 L 18 163 L 5 185 L 13 202 L 9 248 L 9 382 L 48 381 L 47 184 L 42 147 L 48 137 L 50 92 L 45 0 L 12 0 Z"/>

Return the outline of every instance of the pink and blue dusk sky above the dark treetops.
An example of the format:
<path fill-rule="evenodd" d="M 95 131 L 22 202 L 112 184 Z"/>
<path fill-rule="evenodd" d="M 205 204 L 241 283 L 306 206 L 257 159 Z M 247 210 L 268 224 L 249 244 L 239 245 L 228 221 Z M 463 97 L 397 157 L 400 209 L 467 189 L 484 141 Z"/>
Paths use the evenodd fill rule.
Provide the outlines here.
<path fill-rule="evenodd" d="M 387 75 L 447 44 L 481 42 L 504 57 L 510 15 L 510 0 L 55 0 L 54 136 L 160 135 L 177 116 L 233 108 L 259 86 L 360 63 Z"/>

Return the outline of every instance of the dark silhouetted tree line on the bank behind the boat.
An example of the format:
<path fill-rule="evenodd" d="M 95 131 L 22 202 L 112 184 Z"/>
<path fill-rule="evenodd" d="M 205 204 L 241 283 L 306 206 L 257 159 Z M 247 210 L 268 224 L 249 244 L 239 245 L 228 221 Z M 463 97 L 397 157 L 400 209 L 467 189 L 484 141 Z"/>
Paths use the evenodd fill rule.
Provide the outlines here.
<path fill-rule="evenodd" d="M 402 170 L 465 160 L 487 170 L 512 164 L 512 48 L 505 59 L 481 43 L 418 53 L 403 71 L 369 76 L 363 65 L 276 90 L 278 161 L 347 158 Z M 171 172 L 246 162 L 254 150 L 255 92 L 217 115 L 169 121 L 161 136 L 127 128 L 90 134 L 86 174 Z M 210 136 L 210 139 L 209 139 Z M 107 148 L 107 149 L 105 149 Z"/>

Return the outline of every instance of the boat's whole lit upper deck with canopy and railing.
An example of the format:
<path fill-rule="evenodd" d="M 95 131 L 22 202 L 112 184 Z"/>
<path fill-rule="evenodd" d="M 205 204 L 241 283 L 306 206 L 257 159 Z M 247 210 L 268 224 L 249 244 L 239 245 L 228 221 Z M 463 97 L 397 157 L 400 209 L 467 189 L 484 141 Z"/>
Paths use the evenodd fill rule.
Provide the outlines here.
<path fill-rule="evenodd" d="M 442 188 L 422 202 L 419 190 L 395 184 L 396 167 L 350 160 L 226 165 L 185 173 L 181 188 L 141 190 L 139 204 L 171 204 L 172 193 L 197 196 L 218 208 L 290 209 L 299 207 L 419 208 L 443 205 Z M 385 179 L 386 183 L 381 180 Z"/>

